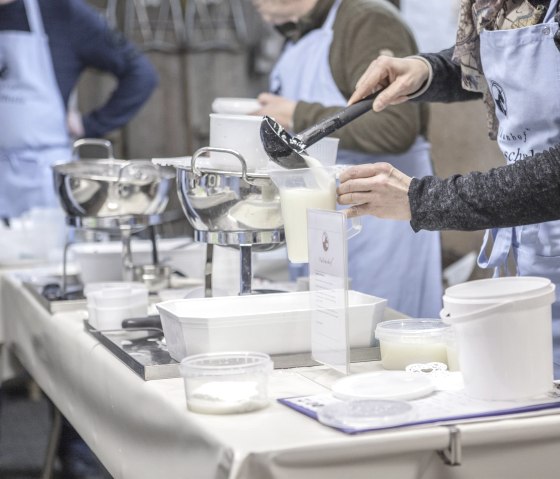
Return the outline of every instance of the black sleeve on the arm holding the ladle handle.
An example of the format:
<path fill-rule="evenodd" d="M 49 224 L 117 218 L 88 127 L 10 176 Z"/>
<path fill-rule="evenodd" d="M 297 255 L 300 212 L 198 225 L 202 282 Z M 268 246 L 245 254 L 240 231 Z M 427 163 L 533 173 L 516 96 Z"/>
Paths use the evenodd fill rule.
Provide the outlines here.
<path fill-rule="evenodd" d="M 433 79 L 428 89 L 412 101 L 452 103 L 477 100 L 482 94 L 461 85 L 461 67 L 453 61 L 453 48 L 420 55 L 432 66 Z"/>

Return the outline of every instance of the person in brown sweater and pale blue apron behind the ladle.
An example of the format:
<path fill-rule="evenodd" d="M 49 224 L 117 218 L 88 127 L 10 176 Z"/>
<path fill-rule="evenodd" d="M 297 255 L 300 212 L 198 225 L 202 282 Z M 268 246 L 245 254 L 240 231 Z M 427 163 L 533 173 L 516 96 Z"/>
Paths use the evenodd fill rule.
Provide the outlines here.
<path fill-rule="evenodd" d="M 412 34 L 398 10 L 385 0 L 253 0 L 265 21 L 286 37 L 259 95 L 259 115 L 302 131 L 341 110 L 371 58 L 416 53 Z M 383 114 L 367 113 L 333 136 L 340 139 L 337 162 L 386 161 L 411 176 L 432 174 L 426 140 L 427 109 L 406 104 Z M 414 233 L 407 222 L 363 220 L 348 244 L 352 289 L 387 298 L 415 317 L 441 309 L 441 246 L 437 232 Z"/>

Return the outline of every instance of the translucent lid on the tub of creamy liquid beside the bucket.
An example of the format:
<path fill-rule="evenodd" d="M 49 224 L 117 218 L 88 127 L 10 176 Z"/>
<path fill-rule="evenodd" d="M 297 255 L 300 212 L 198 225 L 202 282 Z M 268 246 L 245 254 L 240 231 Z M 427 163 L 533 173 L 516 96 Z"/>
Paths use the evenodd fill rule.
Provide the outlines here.
<path fill-rule="evenodd" d="M 439 319 L 392 319 L 377 324 L 375 337 L 398 343 L 439 343 L 448 329 L 449 325 Z"/>

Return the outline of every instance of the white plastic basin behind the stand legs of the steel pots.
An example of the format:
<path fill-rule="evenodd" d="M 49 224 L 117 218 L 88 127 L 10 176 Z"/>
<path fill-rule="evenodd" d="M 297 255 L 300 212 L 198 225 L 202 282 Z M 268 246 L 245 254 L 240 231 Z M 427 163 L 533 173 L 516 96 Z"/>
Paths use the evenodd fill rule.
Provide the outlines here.
<path fill-rule="evenodd" d="M 174 238 L 160 239 L 157 245 L 161 264 L 169 265 L 189 278 L 204 280 L 205 244 L 193 243 L 186 238 Z M 151 241 L 133 240 L 131 250 L 134 264 L 152 262 Z M 76 243 L 72 245 L 72 252 L 84 284 L 123 279 L 120 241 Z"/>

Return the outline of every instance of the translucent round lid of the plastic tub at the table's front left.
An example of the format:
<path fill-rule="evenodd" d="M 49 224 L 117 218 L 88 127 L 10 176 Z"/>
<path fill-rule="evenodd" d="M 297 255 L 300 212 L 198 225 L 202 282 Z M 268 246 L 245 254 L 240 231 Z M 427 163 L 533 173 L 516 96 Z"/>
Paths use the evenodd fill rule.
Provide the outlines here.
<path fill-rule="evenodd" d="M 187 356 L 179 369 L 183 377 L 235 376 L 268 373 L 273 363 L 265 353 L 236 351 Z"/>

